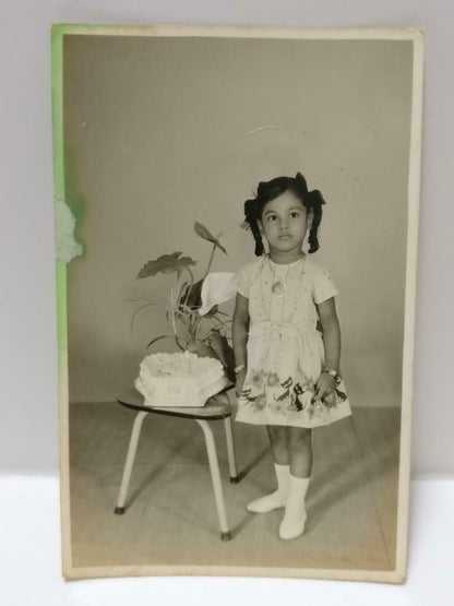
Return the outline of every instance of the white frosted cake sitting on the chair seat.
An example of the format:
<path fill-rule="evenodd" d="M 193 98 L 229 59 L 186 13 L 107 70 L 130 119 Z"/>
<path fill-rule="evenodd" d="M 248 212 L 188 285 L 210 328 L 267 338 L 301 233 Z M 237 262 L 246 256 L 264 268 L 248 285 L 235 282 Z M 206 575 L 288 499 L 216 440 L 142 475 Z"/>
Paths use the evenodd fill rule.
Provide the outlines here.
<path fill-rule="evenodd" d="M 140 367 L 134 385 L 145 406 L 203 406 L 228 385 L 223 365 L 195 354 L 151 354 Z"/>

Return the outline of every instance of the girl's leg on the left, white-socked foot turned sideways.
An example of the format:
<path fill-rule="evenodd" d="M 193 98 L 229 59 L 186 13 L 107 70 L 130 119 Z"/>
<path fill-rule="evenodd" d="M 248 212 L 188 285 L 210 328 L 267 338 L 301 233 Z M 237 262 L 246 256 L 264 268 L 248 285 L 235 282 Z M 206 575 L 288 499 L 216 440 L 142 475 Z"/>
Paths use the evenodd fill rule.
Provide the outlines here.
<path fill-rule="evenodd" d="M 271 450 L 273 454 L 274 471 L 277 479 L 277 490 L 248 504 L 248 511 L 254 513 L 266 513 L 285 507 L 288 494 L 288 480 L 290 475 L 288 453 L 288 427 L 276 425 L 266 426 Z"/>

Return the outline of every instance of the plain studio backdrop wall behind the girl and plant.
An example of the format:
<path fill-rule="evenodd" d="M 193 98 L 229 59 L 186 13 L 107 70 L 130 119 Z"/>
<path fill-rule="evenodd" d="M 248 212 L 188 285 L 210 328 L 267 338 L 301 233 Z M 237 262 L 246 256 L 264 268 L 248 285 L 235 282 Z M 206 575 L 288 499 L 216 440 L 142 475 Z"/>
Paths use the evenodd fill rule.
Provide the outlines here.
<path fill-rule="evenodd" d="M 135 281 L 144 262 L 179 250 L 201 277 L 199 221 L 226 230 L 213 269 L 236 271 L 253 256 L 243 201 L 301 170 L 327 202 L 315 258 L 340 290 L 350 402 L 398 406 L 411 69 L 410 41 L 67 36 L 67 202 L 86 251 L 68 269 L 70 399 L 113 400 L 169 333 L 172 276 Z M 156 307 L 131 332 L 133 297 Z"/>

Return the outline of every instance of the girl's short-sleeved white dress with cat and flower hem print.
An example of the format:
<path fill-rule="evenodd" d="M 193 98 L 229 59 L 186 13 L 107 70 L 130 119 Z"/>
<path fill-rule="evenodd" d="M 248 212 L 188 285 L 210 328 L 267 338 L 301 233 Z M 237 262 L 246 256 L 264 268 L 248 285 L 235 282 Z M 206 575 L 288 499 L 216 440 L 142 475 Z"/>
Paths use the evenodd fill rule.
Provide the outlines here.
<path fill-rule="evenodd" d="M 236 420 L 309 428 L 351 415 L 340 378 L 334 397 L 314 393 L 324 365 L 315 304 L 338 293 L 330 272 L 308 254 L 288 264 L 263 254 L 237 273 L 237 289 L 249 299 L 250 325 Z"/>

